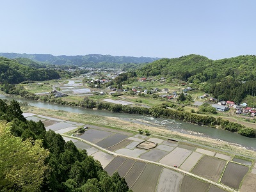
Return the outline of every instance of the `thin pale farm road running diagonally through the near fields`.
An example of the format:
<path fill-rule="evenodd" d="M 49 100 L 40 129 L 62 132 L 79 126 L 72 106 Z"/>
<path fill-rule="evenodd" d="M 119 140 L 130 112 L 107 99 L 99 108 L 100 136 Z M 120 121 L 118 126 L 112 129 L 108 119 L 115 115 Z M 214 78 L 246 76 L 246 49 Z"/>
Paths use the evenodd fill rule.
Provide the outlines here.
<path fill-rule="evenodd" d="M 65 134 L 61 134 L 61 136 L 65 136 L 65 137 L 68 137 L 68 138 L 72 138 L 72 139 L 76 139 L 76 140 L 83 141 L 84 143 L 88 143 L 89 145 L 92 145 L 93 147 L 98 148 L 99 150 L 101 150 L 101 151 L 103 151 L 103 152 L 106 152 L 106 153 L 108 153 L 108 154 L 111 154 L 111 155 L 113 155 L 113 156 L 125 157 L 125 158 L 129 158 L 129 159 L 134 159 L 134 160 L 137 160 L 137 161 L 143 161 L 143 162 L 145 162 L 145 163 L 157 164 L 157 165 L 159 165 L 159 166 L 163 166 L 163 167 L 165 167 L 165 168 L 169 168 L 169 169 L 171 169 L 171 170 L 175 170 L 176 172 L 184 173 L 184 175 L 189 175 L 189 176 L 191 176 L 191 177 L 195 177 L 196 179 L 204 180 L 205 182 L 207 182 L 207 183 L 209 183 L 209 184 L 212 184 L 212 185 L 214 185 L 214 186 L 218 186 L 219 188 L 228 190 L 228 191 L 230 191 L 230 192 L 237 192 L 236 189 L 229 188 L 228 186 L 225 186 L 225 185 L 223 185 L 223 184 L 218 184 L 218 183 L 216 183 L 216 182 L 214 182 L 214 181 L 212 181 L 212 180 L 205 179 L 204 177 L 200 177 L 200 176 L 198 176 L 198 175 L 195 175 L 195 174 L 193 174 L 193 173 L 186 172 L 186 171 L 184 171 L 184 170 L 181 170 L 181 169 L 179 169 L 179 168 L 175 168 L 175 167 L 173 167 L 173 166 L 168 166 L 168 165 L 163 164 L 163 163 L 157 163 L 157 162 L 149 161 L 149 160 L 146 160 L 146 159 L 140 159 L 140 158 L 138 158 L 138 157 L 130 157 L 130 156 L 122 155 L 122 154 L 117 154 L 117 153 L 115 153 L 115 152 L 111 152 L 111 151 L 109 151 L 109 150 L 106 150 L 105 148 L 99 147 L 98 145 L 95 145 L 94 143 L 91 143 L 91 142 L 89 142 L 89 141 L 83 140 L 83 139 L 81 139 L 81 138 L 76 138 L 76 137 L 74 137 L 74 136 L 67 136 L 67 135 L 65 135 Z"/>

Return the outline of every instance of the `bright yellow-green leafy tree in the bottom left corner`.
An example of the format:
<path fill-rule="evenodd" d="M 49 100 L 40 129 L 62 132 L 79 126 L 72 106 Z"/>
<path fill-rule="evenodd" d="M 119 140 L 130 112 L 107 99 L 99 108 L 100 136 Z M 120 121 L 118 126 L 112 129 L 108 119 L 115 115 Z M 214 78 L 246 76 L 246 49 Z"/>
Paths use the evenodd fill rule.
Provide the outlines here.
<path fill-rule="evenodd" d="M 42 147 L 42 140 L 22 141 L 13 136 L 11 126 L 0 122 L 0 191 L 39 191 L 49 151 Z"/>

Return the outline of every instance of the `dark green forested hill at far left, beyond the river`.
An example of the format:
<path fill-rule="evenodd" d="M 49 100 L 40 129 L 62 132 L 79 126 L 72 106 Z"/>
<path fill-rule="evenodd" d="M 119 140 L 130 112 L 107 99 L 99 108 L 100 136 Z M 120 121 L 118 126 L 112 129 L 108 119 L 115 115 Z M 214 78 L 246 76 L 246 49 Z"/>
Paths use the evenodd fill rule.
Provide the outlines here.
<path fill-rule="evenodd" d="M 0 83 L 20 83 L 22 81 L 45 81 L 58 79 L 60 74 L 28 59 L 10 60 L 0 57 Z"/>

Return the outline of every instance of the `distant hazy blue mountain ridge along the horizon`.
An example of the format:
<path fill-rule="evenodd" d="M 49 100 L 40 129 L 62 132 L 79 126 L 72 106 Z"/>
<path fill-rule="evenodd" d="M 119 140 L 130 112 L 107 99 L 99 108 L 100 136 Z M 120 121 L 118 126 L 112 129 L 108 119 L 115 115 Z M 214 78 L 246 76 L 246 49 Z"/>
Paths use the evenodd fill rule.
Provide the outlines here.
<path fill-rule="evenodd" d="M 14 58 L 29 58 L 33 61 L 39 61 L 44 63 L 51 63 L 53 65 L 77 65 L 93 67 L 92 64 L 112 63 L 150 63 L 152 61 L 159 60 L 159 58 L 149 57 L 132 57 L 132 56 L 111 56 L 102 54 L 87 54 L 84 56 L 53 56 L 51 54 L 19 54 L 19 53 L 5 53 L 0 52 L 0 56 L 14 59 Z M 116 65 L 115 65 L 116 66 Z"/>

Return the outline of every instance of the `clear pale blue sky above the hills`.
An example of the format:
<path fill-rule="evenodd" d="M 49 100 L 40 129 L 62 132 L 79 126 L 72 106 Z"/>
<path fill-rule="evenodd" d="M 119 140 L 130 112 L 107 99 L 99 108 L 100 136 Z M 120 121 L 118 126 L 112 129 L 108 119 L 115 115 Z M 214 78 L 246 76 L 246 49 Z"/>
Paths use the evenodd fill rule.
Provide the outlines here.
<path fill-rule="evenodd" d="M 0 52 L 212 60 L 256 54 L 255 0 L 8 0 Z"/>

